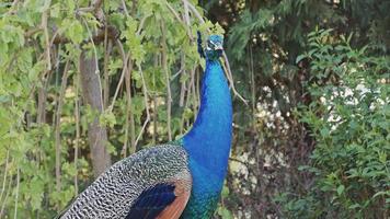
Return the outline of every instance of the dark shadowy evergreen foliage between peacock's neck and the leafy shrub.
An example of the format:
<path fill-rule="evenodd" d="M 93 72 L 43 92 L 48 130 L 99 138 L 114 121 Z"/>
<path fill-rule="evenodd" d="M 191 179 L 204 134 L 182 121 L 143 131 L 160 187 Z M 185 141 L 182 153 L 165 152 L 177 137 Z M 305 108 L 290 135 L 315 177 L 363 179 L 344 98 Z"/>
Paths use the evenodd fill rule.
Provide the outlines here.
<path fill-rule="evenodd" d="M 332 28 L 331 37 L 339 39 L 340 35 L 353 34 L 351 47 L 360 50 L 369 46 L 360 59 L 377 57 L 382 64 L 389 62 L 386 26 L 390 3 L 385 0 L 203 2 L 208 18 L 227 30 L 227 54 L 237 88 L 250 101 L 250 107 L 234 102 L 236 135 L 227 181 L 231 193 L 223 198 L 225 206 L 239 218 L 300 218 L 291 214 L 292 209 L 288 215 L 285 210 L 289 200 L 308 193 L 317 177 L 298 170 L 313 163 L 310 155 L 318 142 L 311 135 L 312 127 L 299 116 L 303 106 L 317 101 L 311 96 L 309 82 L 318 73 L 302 55 L 311 50 L 308 34 L 316 28 Z M 332 56 L 325 56 L 326 60 Z M 360 77 L 365 78 L 365 73 L 368 71 Z M 388 80 L 386 74 L 382 78 Z M 285 201 L 276 201 L 283 197 Z M 310 205 L 321 198 L 311 196 L 299 203 Z M 301 205 L 301 209 L 308 209 L 308 205 Z M 308 210 L 300 212 L 310 217 Z"/>

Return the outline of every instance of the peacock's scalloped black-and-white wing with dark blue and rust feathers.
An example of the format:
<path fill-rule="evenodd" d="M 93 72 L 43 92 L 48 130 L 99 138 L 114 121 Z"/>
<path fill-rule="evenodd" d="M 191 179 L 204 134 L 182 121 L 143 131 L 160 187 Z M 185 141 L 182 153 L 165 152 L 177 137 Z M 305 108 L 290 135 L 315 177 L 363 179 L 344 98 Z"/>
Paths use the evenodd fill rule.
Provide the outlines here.
<path fill-rule="evenodd" d="M 183 147 L 156 146 L 112 165 L 77 197 L 61 219 L 179 218 L 191 186 Z"/>

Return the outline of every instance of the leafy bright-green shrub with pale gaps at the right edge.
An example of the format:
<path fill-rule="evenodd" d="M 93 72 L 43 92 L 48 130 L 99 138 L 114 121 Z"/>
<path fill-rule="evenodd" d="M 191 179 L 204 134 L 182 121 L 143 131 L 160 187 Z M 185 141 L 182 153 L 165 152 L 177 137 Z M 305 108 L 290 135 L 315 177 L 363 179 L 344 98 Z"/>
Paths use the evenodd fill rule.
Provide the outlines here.
<path fill-rule="evenodd" d="M 386 218 L 390 207 L 389 62 L 352 48 L 349 37 L 331 31 L 309 34 L 309 106 L 298 112 L 311 128 L 316 175 L 307 194 L 285 194 L 286 215 L 294 218 Z"/>

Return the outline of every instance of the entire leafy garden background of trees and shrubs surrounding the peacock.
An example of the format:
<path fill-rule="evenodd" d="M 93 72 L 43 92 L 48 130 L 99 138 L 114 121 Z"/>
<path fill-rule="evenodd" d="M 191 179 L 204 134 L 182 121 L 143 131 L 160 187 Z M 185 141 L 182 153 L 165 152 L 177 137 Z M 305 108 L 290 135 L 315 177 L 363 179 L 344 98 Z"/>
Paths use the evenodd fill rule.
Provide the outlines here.
<path fill-rule="evenodd" d="M 0 1 L 0 218 L 53 218 L 191 128 L 223 34 L 233 143 L 215 218 L 388 218 L 390 1 Z M 242 96 L 244 100 L 242 100 Z"/>

